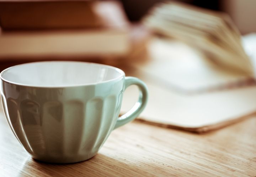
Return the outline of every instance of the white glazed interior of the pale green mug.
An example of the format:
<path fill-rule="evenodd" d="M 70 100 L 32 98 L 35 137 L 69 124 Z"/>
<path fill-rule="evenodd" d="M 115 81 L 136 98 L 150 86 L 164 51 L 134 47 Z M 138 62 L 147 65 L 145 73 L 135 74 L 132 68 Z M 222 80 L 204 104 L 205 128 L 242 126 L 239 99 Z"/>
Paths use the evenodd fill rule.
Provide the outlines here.
<path fill-rule="evenodd" d="M 2 71 L 2 80 L 18 85 L 65 87 L 91 85 L 124 76 L 121 69 L 86 62 L 34 62 L 16 65 Z"/>

